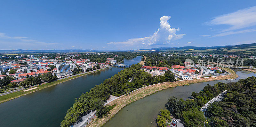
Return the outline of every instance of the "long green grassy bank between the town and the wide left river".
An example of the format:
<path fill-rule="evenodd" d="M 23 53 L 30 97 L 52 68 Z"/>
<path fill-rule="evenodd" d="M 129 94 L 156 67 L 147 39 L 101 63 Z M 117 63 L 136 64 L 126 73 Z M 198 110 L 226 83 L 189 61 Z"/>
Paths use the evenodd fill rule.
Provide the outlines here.
<path fill-rule="evenodd" d="M 103 68 L 103 69 L 106 69 L 106 68 Z M 99 69 L 97 71 L 100 71 L 100 70 L 103 70 L 103 69 Z M 44 89 L 44 88 L 47 88 L 47 87 L 51 87 L 51 86 L 57 85 L 59 83 L 62 83 L 62 82 L 68 81 L 68 80 L 72 80 L 72 79 L 75 79 L 77 77 L 84 76 L 86 74 L 91 74 L 91 73 L 94 73 L 94 72 L 97 72 L 97 71 L 88 72 L 88 73 L 84 73 L 84 74 L 79 74 L 79 75 L 76 75 L 76 76 L 73 76 L 73 77 L 68 77 L 68 78 L 65 78 L 65 79 L 58 80 L 58 81 L 53 81 L 53 82 L 50 82 L 50 83 L 45 83 L 45 84 L 42 84 L 42 85 L 38 85 L 38 86 L 35 86 L 35 87 L 37 87 L 36 89 L 32 89 L 32 90 L 29 90 L 29 91 L 26 91 L 26 92 L 24 92 L 23 90 L 20 90 L 20 91 L 17 91 L 17 92 L 13 92 L 11 94 L 3 95 L 3 96 L 0 96 L 0 103 L 7 102 L 7 101 L 10 101 L 12 99 L 21 97 L 23 95 L 30 94 L 30 93 L 36 92 L 38 90 L 41 90 L 41 89 Z M 32 87 L 32 88 L 34 88 L 34 87 Z M 30 89 L 30 88 L 27 88 L 27 89 Z M 27 90 L 27 89 L 24 89 L 24 90 Z"/>

